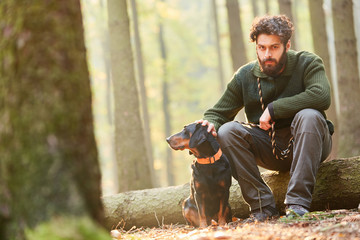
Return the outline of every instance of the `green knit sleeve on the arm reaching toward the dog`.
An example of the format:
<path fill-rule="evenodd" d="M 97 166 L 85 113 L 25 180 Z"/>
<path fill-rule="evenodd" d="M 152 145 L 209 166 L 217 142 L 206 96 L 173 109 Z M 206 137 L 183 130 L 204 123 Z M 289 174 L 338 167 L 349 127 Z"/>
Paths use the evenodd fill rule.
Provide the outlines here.
<path fill-rule="evenodd" d="M 243 108 L 241 93 L 241 84 L 235 74 L 219 101 L 204 113 L 204 119 L 213 123 L 216 131 L 224 123 L 234 120 L 236 114 Z"/>

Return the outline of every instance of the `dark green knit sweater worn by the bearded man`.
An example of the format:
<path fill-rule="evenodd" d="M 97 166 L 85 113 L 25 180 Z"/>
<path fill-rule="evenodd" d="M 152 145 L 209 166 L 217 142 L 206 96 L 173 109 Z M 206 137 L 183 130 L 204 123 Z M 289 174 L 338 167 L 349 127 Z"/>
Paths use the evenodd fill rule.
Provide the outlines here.
<path fill-rule="evenodd" d="M 290 126 L 295 114 L 305 108 L 319 110 L 326 118 L 324 110 L 330 106 L 330 85 L 321 58 L 309 52 L 289 50 L 286 67 L 276 78 L 264 74 L 258 61 L 242 66 L 220 100 L 205 112 L 204 119 L 218 130 L 245 107 L 248 121 L 259 123 L 263 111 L 257 78 L 260 78 L 265 108 L 270 104 L 276 128 Z"/>

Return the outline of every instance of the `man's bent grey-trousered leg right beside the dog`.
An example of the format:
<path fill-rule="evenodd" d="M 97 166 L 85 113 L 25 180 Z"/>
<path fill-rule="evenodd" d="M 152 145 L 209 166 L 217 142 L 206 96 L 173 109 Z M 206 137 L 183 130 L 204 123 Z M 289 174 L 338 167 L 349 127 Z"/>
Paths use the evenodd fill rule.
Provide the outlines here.
<path fill-rule="evenodd" d="M 251 213 L 266 212 L 265 218 L 267 218 L 278 213 L 274 196 L 257 167 L 259 151 L 268 151 L 271 155 L 271 143 L 266 141 L 264 136 L 267 136 L 266 131 L 248 128 L 238 122 L 228 122 L 218 131 L 218 141 L 230 161 L 232 175 L 239 182 L 244 200 L 250 205 Z M 267 208 L 271 208 L 271 211 L 266 211 Z"/>

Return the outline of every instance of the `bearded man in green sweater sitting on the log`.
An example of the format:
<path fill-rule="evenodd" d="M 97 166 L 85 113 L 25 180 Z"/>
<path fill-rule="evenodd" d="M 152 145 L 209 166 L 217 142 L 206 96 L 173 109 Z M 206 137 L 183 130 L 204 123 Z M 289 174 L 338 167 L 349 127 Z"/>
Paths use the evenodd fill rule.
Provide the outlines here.
<path fill-rule="evenodd" d="M 257 61 L 234 74 L 223 96 L 200 120 L 229 158 L 253 221 L 279 215 L 257 165 L 290 171 L 286 214 L 302 216 L 309 211 L 320 162 L 331 151 L 333 125 L 324 113 L 330 106 L 330 85 L 324 65 L 315 54 L 290 50 L 292 32 L 293 24 L 284 15 L 255 19 L 250 38 L 256 43 Z M 258 127 L 233 121 L 243 107 L 248 121 Z M 293 137 L 283 160 L 273 154 L 268 134 L 273 123 L 277 156 Z"/>

